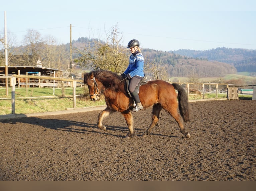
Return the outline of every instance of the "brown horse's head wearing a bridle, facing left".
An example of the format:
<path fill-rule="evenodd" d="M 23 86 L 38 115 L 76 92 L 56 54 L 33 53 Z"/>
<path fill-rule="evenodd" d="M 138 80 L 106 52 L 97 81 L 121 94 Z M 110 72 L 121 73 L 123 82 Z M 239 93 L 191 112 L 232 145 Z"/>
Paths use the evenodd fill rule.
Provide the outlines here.
<path fill-rule="evenodd" d="M 85 73 L 84 84 L 87 84 L 91 101 L 97 101 L 100 97 L 100 91 L 93 72 Z"/>

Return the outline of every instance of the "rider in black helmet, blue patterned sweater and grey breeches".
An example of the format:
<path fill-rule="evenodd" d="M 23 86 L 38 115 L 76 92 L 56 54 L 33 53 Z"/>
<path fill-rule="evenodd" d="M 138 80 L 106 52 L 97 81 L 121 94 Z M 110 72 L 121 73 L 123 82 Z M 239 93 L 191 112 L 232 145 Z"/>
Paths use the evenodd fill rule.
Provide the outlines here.
<path fill-rule="evenodd" d="M 144 77 L 144 57 L 140 51 L 140 43 L 136 39 L 132 39 L 127 48 L 131 51 L 131 56 L 129 60 L 129 65 L 121 76 L 129 79 L 129 91 L 136 102 L 136 107 L 132 111 L 139 111 L 143 109 L 140 103 L 139 95 L 135 90 L 135 87 Z"/>

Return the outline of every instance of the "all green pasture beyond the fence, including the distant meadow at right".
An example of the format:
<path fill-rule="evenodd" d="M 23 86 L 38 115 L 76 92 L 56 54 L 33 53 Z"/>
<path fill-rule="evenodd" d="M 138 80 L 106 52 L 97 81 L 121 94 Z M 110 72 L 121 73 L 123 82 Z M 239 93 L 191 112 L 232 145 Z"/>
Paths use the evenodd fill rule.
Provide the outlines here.
<path fill-rule="evenodd" d="M 215 82 L 224 83 L 224 80 L 243 79 L 247 84 L 256 84 L 256 77 L 248 76 L 249 72 L 241 72 L 238 74 L 228 74 L 223 78 L 198 78 L 199 83 Z M 172 82 L 186 83 L 191 78 L 172 77 Z M 48 111 L 61 111 L 73 107 L 73 89 L 65 88 L 15 88 L 15 112 L 16 114 L 28 114 Z M 76 88 L 76 107 L 88 107 L 104 105 L 105 101 L 102 97 L 99 101 L 93 102 L 89 99 L 88 89 L 84 87 Z M 226 94 L 218 94 L 219 98 L 226 98 Z M 216 98 L 215 93 L 205 94 L 205 99 Z M 251 99 L 252 95 L 240 95 L 239 99 Z M 200 94 L 189 94 L 189 100 L 202 99 Z M 11 87 L 8 88 L 8 96 L 6 97 L 5 87 L 0 88 L 0 115 L 11 114 Z"/>

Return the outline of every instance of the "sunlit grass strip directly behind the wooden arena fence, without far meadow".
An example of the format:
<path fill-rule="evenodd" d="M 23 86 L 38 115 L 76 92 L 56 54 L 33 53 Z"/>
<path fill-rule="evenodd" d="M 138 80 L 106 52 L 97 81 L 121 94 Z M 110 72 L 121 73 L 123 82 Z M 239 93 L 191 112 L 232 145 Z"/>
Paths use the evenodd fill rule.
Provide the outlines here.
<path fill-rule="evenodd" d="M 8 96 L 5 95 L 5 88 L 0 88 L 0 115 L 11 114 L 11 88 L 8 89 Z M 97 102 L 90 101 L 87 89 L 76 88 L 76 107 L 89 107 L 104 105 L 103 96 Z M 66 88 L 65 96 L 62 96 L 61 89 L 55 88 L 16 88 L 15 90 L 15 113 L 29 114 L 49 111 L 62 111 L 73 107 L 73 89 Z M 27 95 L 28 96 L 27 96 Z M 205 94 L 205 99 L 215 98 L 215 93 Z M 218 94 L 218 98 L 225 98 L 226 94 Z M 239 95 L 239 98 L 251 98 L 252 95 Z M 202 99 L 202 95 L 189 95 L 189 100 Z"/>

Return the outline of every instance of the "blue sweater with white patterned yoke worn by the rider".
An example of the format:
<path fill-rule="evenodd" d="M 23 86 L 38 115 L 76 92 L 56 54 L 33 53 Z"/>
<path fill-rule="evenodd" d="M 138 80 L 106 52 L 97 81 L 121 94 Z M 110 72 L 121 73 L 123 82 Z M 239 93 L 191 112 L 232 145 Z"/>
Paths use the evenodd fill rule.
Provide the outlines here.
<path fill-rule="evenodd" d="M 144 57 L 142 53 L 136 51 L 131 54 L 129 65 L 127 69 L 124 71 L 124 74 L 131 79 L 132 77 L 137 77 L 139 79 L 143 79 L 144 77 Z"/>

